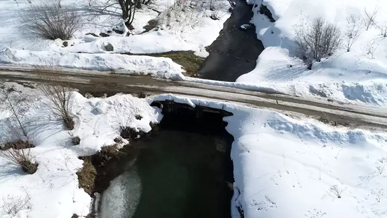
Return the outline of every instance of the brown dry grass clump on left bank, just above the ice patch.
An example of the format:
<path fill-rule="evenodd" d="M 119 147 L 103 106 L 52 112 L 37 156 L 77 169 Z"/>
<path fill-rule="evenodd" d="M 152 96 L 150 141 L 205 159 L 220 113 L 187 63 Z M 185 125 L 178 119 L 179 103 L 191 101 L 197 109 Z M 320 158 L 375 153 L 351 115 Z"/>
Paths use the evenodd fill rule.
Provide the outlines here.
<path fill-rule="evenodd" d="M 85 190 L 89 195 L 93 194 L 94 180 L 97 176 L 97 170 L 91 163 L 90 158 L 84 159 L 84 167 L 82 167 L 76 175 L 78 176 L 79 188 Z"/>

